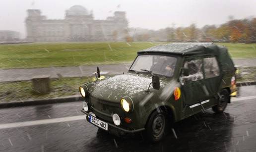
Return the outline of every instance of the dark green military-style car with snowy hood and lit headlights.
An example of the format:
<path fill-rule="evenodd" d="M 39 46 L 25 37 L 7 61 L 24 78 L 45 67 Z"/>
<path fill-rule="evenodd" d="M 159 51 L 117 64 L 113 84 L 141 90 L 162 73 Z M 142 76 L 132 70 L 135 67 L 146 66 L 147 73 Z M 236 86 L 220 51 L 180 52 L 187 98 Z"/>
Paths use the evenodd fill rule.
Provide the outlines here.
<path fill-rule="evenodd" d="M 122 136 L 161 140 L 174 122 L 205 109 L 223 112 L 236 91 L 236 68 L 225 47 L 171 43 L 137 52 L 126 74 L 80 86 L 88 122 Z M 168 124 L 168 125 L 167 125 Z"/>

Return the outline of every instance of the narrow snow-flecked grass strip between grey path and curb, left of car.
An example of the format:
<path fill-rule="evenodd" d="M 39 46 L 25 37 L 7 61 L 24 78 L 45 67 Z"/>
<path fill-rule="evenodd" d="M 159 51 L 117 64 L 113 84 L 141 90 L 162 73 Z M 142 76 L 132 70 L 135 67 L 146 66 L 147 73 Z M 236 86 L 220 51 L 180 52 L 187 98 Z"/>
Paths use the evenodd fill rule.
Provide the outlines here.
<path fill-rule="evenodd" d="M 79 86 L 92 78 L 61 78 L 51 80 L 51 93 L 45 95 L 34 94 L 31 81 L 1 82 L 0 102 L 27 101 L 30 99 L 52 99 L 79 94 Z"/>

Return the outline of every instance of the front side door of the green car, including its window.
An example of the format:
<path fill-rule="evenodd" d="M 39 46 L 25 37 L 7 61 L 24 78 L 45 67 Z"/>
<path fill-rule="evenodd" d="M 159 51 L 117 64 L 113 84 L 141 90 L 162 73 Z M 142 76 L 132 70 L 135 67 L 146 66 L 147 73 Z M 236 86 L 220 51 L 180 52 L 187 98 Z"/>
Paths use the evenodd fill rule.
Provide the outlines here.
<path fill-rule="evenodd" d="M 202 57 L 187 58 L 183 67 L 189 70 L 188 76 L 183 73 L 180 76 L 184 116 L 187 116 L 200 110 L 198 103 L 205 99 Z"/>

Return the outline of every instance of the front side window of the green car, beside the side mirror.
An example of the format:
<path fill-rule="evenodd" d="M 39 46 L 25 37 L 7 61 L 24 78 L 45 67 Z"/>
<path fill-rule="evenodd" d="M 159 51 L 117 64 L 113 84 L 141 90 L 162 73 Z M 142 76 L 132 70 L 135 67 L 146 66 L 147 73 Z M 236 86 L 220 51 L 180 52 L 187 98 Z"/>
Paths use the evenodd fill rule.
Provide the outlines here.
<path fill-rule="evenodd" d="M 185 61 L 184 68 L 188 68 L 189 75 L 184 76 L 182 73 L 181 82 L 183 84 L 203 79 L 202 59 L 193 59 Z"/>

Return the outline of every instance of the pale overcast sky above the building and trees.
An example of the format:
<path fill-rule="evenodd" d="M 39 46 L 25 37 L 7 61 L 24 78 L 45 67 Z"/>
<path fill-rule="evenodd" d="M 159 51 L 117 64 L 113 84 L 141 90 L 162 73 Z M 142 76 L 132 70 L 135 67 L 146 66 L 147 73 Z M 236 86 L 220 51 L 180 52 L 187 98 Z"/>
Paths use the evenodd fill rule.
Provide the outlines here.
<path fill-rule="evenodd" d="M 93 10 L 95 19 L 126 11 L 129 27 L 154 30 L 171 27 L 172 23 L 176 27 L 219 25 L 229 15 L 235 19 L 256 16 L 256 0 L 0 0 L 0 30 L 19 31 L 24 37 L 27 9 L 40 9 L 48 19 L 63 19 L 72 5 Z"/>

